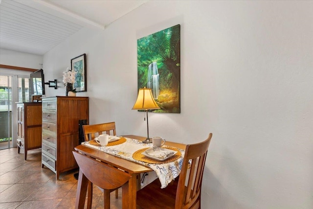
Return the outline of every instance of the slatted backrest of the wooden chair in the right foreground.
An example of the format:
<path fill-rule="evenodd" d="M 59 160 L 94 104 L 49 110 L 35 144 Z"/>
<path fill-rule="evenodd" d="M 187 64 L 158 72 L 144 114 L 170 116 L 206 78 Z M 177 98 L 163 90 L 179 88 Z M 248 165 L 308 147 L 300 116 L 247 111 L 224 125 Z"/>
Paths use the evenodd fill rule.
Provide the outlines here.
<path fill-rule="evenodd" d="M 200 207 L 202 176 L 211 138 L 212 133 L 209 134 L 206 140 L 186 146 L 185 156 L 179 174 L 175 209 Z M 191 166 L 188 168 L 190 162 Z"/>

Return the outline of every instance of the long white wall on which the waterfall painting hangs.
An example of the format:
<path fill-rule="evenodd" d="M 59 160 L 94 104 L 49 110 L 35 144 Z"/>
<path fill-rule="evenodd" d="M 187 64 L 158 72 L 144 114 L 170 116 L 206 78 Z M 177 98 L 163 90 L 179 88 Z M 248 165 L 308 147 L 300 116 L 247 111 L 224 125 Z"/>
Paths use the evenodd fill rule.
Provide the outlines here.
<path fill-rule="evenodd" d="M 44 56 L 58 79 L 87 54 L 90 123 L 146 136 L 136 40 L 181 25 L 181 113 L 150 114 L 150 136 L 213 133 L 202 208 L 313 208 L 313 1 L 149 1 L 101 32 L 81 30 Z"/>

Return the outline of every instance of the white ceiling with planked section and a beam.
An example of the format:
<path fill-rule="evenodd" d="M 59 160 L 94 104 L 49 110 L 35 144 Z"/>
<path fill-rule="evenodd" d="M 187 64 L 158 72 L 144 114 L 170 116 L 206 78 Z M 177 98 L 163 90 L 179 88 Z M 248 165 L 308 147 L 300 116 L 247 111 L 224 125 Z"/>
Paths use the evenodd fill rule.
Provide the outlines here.
<path fill-rule="evenodd" d="M 0 0 L 0 47 L 43 55 L 83 27 L 104 30 L 147 0 Z"/>

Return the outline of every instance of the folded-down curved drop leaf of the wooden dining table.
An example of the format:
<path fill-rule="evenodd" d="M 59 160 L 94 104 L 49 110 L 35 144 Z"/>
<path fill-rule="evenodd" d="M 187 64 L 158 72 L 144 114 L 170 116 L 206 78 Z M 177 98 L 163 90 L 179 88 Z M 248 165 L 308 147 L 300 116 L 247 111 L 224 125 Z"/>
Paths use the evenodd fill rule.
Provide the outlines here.
<path fill-rule="evenodd" d="M 79 166 L 79 169 L 93 184 L 103 189 L 115 189 L 124 185 L 132 177 L 118 168 L 97 161 L 89 156 L 73 151 L 74 158 Z M 108 178 L 113 176 L 114 178 Z"/>

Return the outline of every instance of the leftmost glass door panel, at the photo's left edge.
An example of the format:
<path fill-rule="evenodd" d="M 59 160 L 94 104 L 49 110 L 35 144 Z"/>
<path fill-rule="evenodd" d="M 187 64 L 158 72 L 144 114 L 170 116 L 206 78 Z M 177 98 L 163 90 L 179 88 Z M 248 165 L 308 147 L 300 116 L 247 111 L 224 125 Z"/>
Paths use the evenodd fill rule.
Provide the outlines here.
<path fill-rule="evenodd" d="M 0 75 L 0 149 L 13 147 L 12 76 Z"/>

